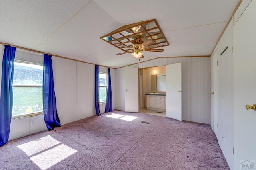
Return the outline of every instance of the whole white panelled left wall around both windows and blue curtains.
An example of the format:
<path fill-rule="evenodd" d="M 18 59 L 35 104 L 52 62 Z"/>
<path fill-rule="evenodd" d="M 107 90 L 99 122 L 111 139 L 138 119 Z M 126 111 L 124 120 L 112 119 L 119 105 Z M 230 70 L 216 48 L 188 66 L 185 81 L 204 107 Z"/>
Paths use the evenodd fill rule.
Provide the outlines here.
<path fill-rule="evenodd" d="M 2 56 L 4 46 L 0 45 L 0 70 L 2 70 Z M 43 63 L 43 55 L 16 49 L 16 59 Z M 94 75 L 95 65 L 52 57 L 54 73 L 54 89 L 56 107 L 62 125 L 94 116 Z M 108 72 L 107 68 L 99 68 L 100 72 Z M 115 79 L 116 71 L 110 69 L 112 83 L 112 104 L 115 109 Z M 100 104 L 100 111 L 104 113 L 105 103 Z M 34 124 L 31 124 L 34 121 Z M 12 119 L 9 140 L 46 130 L 44 115 Z"/>

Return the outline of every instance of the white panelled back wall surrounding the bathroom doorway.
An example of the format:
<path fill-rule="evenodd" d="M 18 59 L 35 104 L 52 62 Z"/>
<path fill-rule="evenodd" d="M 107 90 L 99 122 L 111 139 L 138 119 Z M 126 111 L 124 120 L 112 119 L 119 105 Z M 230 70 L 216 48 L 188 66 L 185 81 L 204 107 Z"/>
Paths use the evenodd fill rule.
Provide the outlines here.
<path fill-rule="evenodd" d="M 210 57 L 159 58 L 128 66 L 182 63 L 182 120 L 210 124 Z M 116 109 L 124 110 L 124 69 L 116 69 Z"/>

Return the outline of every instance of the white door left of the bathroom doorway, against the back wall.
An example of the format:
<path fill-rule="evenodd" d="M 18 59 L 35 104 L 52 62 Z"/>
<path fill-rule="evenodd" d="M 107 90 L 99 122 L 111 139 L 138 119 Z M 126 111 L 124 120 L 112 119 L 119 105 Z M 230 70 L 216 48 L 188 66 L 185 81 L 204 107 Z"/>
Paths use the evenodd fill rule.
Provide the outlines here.
<path fill-rule="evenodd" d="M 138 68 L 125 69 L 125 111 L 139 112 Z"/>

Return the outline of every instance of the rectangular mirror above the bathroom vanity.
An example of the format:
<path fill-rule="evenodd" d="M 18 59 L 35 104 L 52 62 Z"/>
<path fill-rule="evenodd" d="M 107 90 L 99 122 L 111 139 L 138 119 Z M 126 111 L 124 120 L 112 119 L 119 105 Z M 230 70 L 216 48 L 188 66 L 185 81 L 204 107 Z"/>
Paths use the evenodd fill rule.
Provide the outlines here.
<path fill-rule="evenodd" d="M 151 75 L 151 91 L 166 92 L 166 74 Z"/>

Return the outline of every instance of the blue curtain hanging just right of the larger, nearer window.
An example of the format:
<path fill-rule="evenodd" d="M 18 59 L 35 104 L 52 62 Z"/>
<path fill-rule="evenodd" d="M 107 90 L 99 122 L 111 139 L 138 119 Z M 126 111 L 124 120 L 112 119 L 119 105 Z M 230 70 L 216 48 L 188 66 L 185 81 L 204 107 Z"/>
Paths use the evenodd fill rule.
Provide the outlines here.
<path fill-rule="evenodd" d="M 43 73 L 43 106 L 44 121 L 47 129 L 53 130 L 60 126 L 60 119 L 57 114 L 56 99 L 53 83 L 52 56 L 44 54 L 44 73 Z"/>

